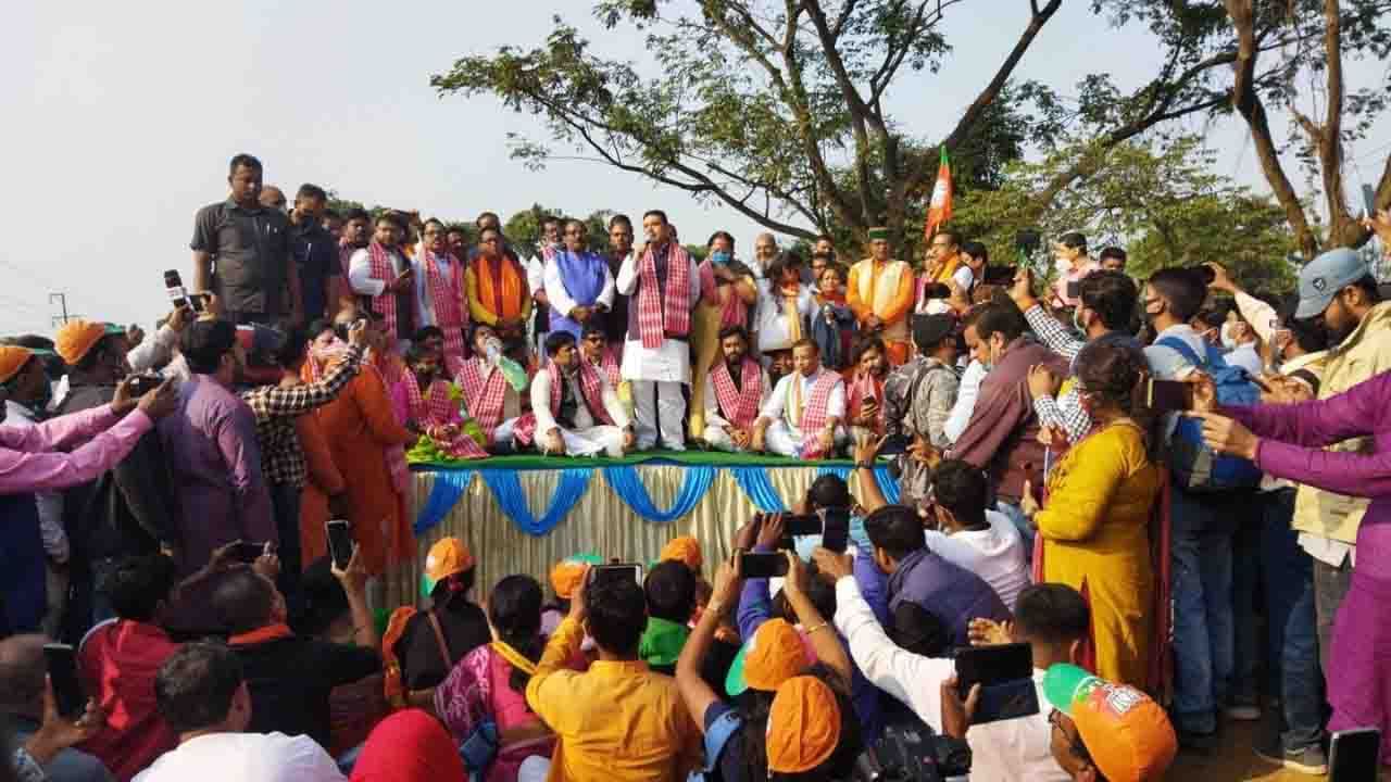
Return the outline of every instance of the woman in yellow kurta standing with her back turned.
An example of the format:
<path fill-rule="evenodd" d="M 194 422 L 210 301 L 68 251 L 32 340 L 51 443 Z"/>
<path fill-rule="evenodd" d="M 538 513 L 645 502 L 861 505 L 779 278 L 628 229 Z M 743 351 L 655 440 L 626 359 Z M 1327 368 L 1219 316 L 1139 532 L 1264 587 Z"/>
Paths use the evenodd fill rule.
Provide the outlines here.
<path fill-rule="evenodd" d="M 1043 540 L 1042 577 L 1077 589 L 1091 605 L 1095 673 L 1145 689 L 1156 589 L 1149 522 L 1161 473 L 1125 409 L 1143 356 L 1125 345 L 1088 345 L 1077 366 L 1096 429 L 1053 468 L 1047 508 L 1032 515 Z"/>

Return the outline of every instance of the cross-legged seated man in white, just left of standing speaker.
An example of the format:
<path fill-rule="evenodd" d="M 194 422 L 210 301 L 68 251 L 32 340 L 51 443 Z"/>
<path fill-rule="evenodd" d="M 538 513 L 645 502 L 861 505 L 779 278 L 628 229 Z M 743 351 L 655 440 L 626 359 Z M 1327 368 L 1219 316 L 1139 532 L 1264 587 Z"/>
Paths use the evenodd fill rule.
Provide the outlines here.
<path fill-rule="evenodd" d="M 531 378 L 531 438 L 544 455 L 620 458 L 636 437 L 618 392 L 604 373 L 580 358 L 574 335 L 552 331 L 545 338 L 549 362 Z"/>

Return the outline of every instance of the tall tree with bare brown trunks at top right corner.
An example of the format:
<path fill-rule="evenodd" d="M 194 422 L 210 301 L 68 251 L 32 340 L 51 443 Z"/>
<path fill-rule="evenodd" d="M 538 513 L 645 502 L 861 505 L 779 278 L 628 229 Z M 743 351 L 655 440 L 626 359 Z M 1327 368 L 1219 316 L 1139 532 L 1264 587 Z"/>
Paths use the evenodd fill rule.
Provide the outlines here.
<path fill-rule="evenodd" d="M 1224 0 L 1238 49 L 1234 67 L 1232 104 L 1251 128 L 1251 139 L 1260 160 L 1262 173 L 1276 193 L 1285 217 L 1295 231 L 1305 257 L 1313 257 L 1320 246 L 1362 246 L 1370 231 L 1362 227 L 1352 210 L 1342 179 L 1344 145 L 1360 138 L 1370 120 L 1385 109 L 1391 90 L 1387 86 L 1365 88 L 1349 95 L 1344 83 L 1344 54 L 1366 54 L 1384 60 L 1391 51 L 1391 26 L 1385 14 L 1391 3 L 1374 0 L 1288 0 L 1287 3 L 1255 3 L 1255 0 Z M 1289 36 L 1310 42 L 1295 56 L 1287 57 L 1278 68 L 1283 89 L 1262 90 L 1257 65 L 1270 50 L 1263 40 L 1270 36 Z M 1312 89 L 1303 89 L 1308 79 Z M 1324 110 L 1316 113 L 1301 106 L 1323 99 Z M 1326 238 L 1320 238 L 1317 214 L 1310 218 L 1310 206 L 1302 200 L 1285 174 L 1280 147 L 1270 129 L 1266 103 L 1288 110 L 1294 125 L 1302 134 L 1298 143 L 1305 166 L 1320 175 L 1324 210 L 1328 216 Z M 1346 120 L 1356 120 L 1348 127 Z M 1376 186 L 1376 206 L 1391 206 L 1391 156 Z"/>

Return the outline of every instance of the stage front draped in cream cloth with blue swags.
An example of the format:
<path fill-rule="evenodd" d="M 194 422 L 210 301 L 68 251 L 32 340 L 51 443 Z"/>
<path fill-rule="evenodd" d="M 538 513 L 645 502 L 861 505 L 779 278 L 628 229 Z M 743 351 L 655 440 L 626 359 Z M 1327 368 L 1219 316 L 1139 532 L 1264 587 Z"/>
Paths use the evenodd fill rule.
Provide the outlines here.
<path fill-rule="evenodd" d="M 651 451 L 623 459 L 537 455 L 455 465 L 413 465 L 419 551 L 389 579 L 389 597 L 419 594 L 430 545 L 453 536 L 477 559 L 483 594 L 499 577 L 530 573 L 549 586 L 551 566 L 572 554 L 650 562 L 668 540 L 693 534 L 711 562 L 729 555 L 732 533 L 758 511 L 786 511 L 822 473 L 858 479 L 851 462 L 803 462 L 712 451 Z M 886 466 L 881 488 L 897 497 Z M 415 591 L 412 591 L 415 590 Z"/>

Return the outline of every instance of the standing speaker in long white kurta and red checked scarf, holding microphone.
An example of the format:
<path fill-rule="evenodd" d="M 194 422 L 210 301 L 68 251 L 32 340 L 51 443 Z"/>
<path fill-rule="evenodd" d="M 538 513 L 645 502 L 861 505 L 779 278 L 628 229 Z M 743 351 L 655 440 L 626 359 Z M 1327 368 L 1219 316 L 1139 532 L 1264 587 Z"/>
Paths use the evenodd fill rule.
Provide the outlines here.
<path fill-rule="evenodd" d="M 647 244 L 618 274 L 618 292 L 632 296 L 623 378 L 633 381 L 637 448 L 647 451 L 661 437 L 668 449 L 684 451 L 682 385 L 691 380 L 689 340 L 700 274 L 694 259 L 672 241 L 665 212 L 644 214 L 643 234 Z"/>

